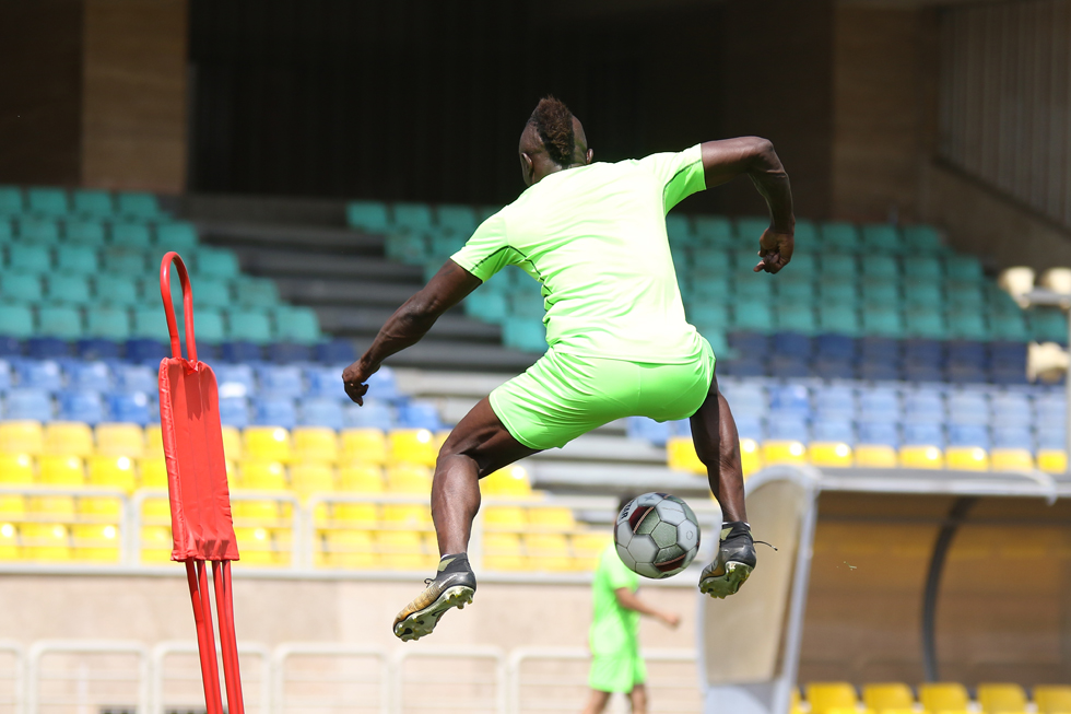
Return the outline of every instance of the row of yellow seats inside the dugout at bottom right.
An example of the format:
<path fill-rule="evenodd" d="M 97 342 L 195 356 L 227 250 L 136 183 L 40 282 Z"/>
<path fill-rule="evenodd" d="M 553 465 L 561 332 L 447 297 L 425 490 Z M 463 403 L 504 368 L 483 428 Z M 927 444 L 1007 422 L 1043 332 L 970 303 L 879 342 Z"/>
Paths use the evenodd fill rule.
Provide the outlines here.
<path fill-rule="evenodd" d="M 1062 714 L 1071 712 L 1071 687 L 1038 684 L 1031 701 L 1019 684 L 982 682 L 977 688 L 977 701 L 972 701 L 967 688 L 958 682 L 926 682 L 918 686 L 918 699 L 911 688 L 902 682 L 864 684 L 862 698 L 848 682 L 812 682 L 803 687 L 801 700 L 792 691 L 792 714 L 843 714 L 864 707 L 873 714 L 926 712 L 927 714 Z"/>

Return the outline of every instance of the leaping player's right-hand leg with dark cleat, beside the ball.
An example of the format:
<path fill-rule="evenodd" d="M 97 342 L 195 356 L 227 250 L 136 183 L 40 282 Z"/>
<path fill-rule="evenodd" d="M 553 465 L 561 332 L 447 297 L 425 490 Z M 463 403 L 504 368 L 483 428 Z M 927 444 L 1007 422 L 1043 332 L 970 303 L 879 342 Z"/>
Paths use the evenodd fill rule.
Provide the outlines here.
<path fill-rule="evenodd" d="M 707 467 L 710 492 L 721 505 L 720 546 L 714 562 L 699 575 L 699 590 L 723 598 L 740 589 L 757 559 L 744 506 L 744 477 L 740 466 L 740 436 L 729 402 L 718 390 L 717 378 L 699 410 L 692 415 L 692 441 Z"/>

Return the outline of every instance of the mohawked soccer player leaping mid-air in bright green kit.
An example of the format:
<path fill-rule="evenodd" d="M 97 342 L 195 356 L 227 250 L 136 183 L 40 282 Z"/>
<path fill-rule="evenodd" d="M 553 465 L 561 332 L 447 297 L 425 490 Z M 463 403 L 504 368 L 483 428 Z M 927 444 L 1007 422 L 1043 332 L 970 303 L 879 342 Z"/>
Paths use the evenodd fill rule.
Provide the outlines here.
<path fill-rule="evenodd" d="M 480 508 L 479 479 L 623 417 L 691 418 L 725 520 L 699 590 L 732 595 L 756 563 L 735 422 L 718 391 L 714 351 L 685 319 L 666 213 L 696 191 L 746 175 L 770 214 L 754 271 L 779 271 L 792 257 L 796 219 L 773 144 L 741 137 L 592 163 L 579 120 L 546 97 L 521 132 L 519 153 L 527 190 L 484 221 L 342 373 L 346 394 L 363 403 L 366 382 L 384 360 L 417 342 L 505 266 L 540 282 L 550 349 L 473 407 L 439 449 L 432 518 L 440 560 L 435 577 L 395 619 L 403 641 L 428 634 L 448 609 L 472 601 L 476 581 L 466 550 Z"/>

